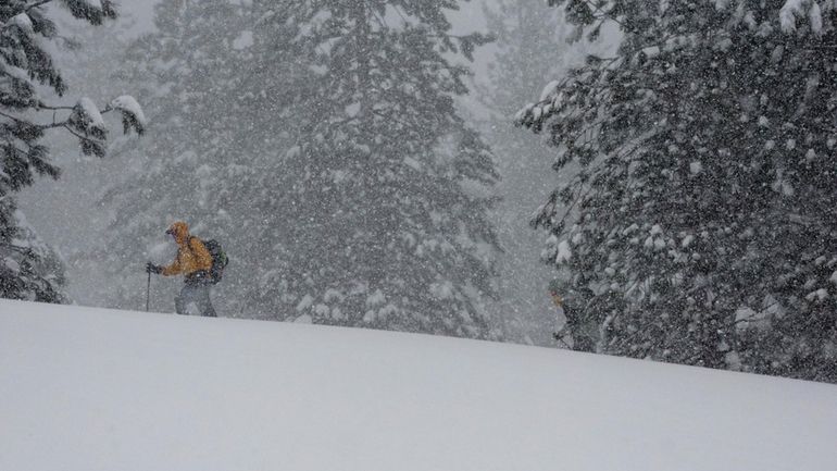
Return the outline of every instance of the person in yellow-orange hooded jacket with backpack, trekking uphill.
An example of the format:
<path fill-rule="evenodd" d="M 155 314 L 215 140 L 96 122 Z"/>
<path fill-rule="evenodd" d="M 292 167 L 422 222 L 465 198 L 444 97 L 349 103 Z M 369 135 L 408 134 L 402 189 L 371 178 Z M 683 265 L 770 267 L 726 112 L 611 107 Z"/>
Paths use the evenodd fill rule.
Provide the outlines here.
<path fill-rule="evenodd" d="M 177 257 L 167 267 L 148 262 L 146 271 L 163 276 L 184 275 L 186 283 L 180 289 L 180 295 L 174 300 L 174 308 L 178 314 L 186 314 L 189 305 L 195 303 L 201 315 L 216 318 L 217 314 L 210 300 L 208 283 L 210 269 L 212 269 L 212 256 L 209 250 L 199 238 L 189 234 L 189 226 L 185 222 L 177 221 L 165 233 L 174 237 L 177 243 Z"/>

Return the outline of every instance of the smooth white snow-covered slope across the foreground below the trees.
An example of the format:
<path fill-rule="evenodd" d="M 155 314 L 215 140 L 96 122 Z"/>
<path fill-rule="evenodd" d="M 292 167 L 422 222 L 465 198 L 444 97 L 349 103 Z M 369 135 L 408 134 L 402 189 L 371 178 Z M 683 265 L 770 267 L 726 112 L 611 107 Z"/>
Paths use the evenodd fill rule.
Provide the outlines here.
<path fill-rule="evenodd" d="M 837 387 L 0 300 L 0 470 L 837 469 Z"/>

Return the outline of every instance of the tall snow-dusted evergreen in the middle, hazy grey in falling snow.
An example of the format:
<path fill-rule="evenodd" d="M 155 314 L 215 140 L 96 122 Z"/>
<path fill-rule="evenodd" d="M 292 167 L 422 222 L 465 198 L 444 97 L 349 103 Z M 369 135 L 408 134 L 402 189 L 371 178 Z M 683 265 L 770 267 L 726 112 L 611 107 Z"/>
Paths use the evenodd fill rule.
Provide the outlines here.
<path fill-rule="evenodd" d="M 254 299 L 289 319 L 496 336 L 491 156 L 457 114 L 478 34 L 453 37 L 451 0 L 289 1 L 314 50 L 314 95 L 285 158 L 286 270 Z M 284 23 L 274 23 L 282 26 Z"/>

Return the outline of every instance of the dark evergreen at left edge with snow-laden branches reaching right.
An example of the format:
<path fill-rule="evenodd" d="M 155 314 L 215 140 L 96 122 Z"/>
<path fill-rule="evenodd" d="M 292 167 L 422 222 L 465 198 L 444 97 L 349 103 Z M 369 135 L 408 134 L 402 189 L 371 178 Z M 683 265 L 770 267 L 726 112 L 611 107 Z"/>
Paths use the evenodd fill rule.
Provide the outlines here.
<path fill-rule="evenodd" d="M 59 176 L 48 148 L 40 144 L 47 131 L 62 128 L 78 138 L 85 153 L 101 157 L 108 132 L 102 113 L 122 111 L 126 132 L 142 131 L 142 113 L 130 97 L 120 97 L 102 111 L 88 98 L 73 107 L 43 101 L 41 90 L 57 97 L 67 90 L 50 52 L 49 45 L 61 36 L 48 3 L 53 2 L 0 3 L 0 297 L 61 302 L 65 299 L 62 263 L 25 222 L 14 193 L 32 185 L 36 175 Z M 91 25 L 116 17 L 109 0 L 54 3 Z"/>

